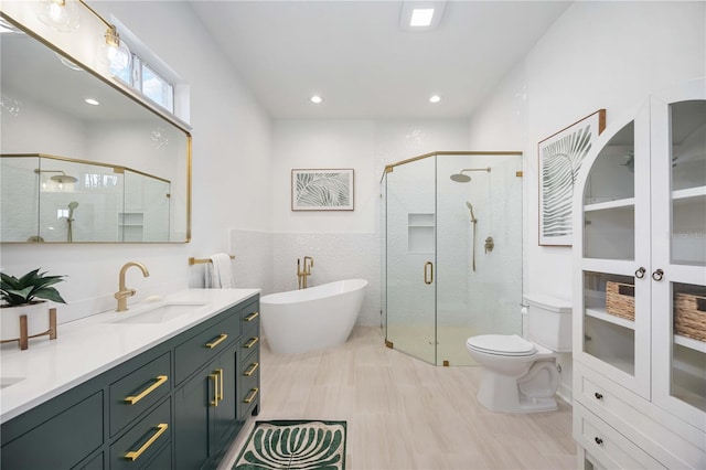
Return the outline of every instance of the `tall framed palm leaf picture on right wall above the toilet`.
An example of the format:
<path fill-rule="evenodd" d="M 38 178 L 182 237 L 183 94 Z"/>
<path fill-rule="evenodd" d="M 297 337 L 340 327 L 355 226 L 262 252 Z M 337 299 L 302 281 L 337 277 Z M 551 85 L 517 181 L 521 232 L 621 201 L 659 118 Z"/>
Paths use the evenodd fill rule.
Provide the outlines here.
<path fill-rule="evenodd" d="M 573 245 L 571 204 L 576 178 L 605 129 L 606 109 L 599 109 L 537 145 L 541 246 Z"/>

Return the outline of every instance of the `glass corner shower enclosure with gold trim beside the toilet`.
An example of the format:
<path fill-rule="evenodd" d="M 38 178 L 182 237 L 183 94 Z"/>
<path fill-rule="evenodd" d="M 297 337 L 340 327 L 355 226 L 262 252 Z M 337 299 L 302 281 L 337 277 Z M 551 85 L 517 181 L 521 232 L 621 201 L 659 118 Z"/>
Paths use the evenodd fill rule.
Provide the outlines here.
<path fill-rule="evenodd" d="M 522 153 L 428 153 L 381 184 L 386 344 L 474 365 L 469 337 L 521 334 Z"/>

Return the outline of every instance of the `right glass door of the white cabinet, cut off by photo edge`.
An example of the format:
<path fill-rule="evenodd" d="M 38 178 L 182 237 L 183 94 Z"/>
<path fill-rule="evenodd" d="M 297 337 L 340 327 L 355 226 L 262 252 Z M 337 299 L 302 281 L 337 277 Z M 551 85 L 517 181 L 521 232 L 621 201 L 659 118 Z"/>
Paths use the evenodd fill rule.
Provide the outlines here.
<path fill-rule="evenodd" d="M 654 400 L 704 429 L 706 99 L 655 98 L 652 120 Z"/>

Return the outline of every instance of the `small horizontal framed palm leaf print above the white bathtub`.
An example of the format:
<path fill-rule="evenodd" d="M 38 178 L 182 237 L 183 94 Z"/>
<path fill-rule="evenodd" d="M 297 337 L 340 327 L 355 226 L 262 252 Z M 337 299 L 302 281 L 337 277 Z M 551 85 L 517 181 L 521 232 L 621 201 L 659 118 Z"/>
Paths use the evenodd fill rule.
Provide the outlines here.
<path fill-rule="evenodd" d="M 352 168 L 291 171 L 292 211 L 353 211 Z"/>

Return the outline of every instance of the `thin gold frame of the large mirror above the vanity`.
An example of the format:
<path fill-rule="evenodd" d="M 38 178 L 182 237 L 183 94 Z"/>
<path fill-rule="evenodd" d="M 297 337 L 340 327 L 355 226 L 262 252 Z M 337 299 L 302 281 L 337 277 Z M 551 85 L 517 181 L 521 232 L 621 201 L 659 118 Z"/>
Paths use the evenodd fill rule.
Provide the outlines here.
<path fill-rule="evenodd" d="M 168 111 L 161 109 L 157 105 L 149 102 L 138 92 L 131 89 L 128 85 L 120 82 L 118 78 L 113 78 L 113 81 L 108 79 L 106 76 L 99 74 L 94 68 L 87 66 L 81 61 L 76 60 L 76 57 L 72 56 L 68 52 L 47 41 L 45 38 L 24 26 L 19 21 L 14 20 L 12 17 L 8 15 L 4 11 L 0 10 L 0 18 L 10 23 L 12 26 L 20 30 L 22 33 L 26 34 L 31 39 L 40 42 L 45 47 L 49 47 L 51 51 L 66 57 L 68 61 L 75 63 L 81 66 L 86 73 L 93 75 L 94 78 L 99 79 L 100 82 L 107 84 L 113 87 L 118 93 L 122 94 L 126 98 L 133 102 L 136 105 L 141 106 L 148 111 L 152 113 L 157 117 L 165 120 L 168 124 L 176 127 L 179 130 L 183 131 L 186 137 L 186 149 L 185 149 L 185 163 L 186 163 L 186 188 L 185 188 L 185 237 L 183 241 L 167 241 L 167 242 L 47 242 L 46 245 L 62 245 L 62 244 L 71 244 L 71 245 L 88 245 L 88 244 L 110 244 L 110 245 L 153 245 L 153 244 L 183 244 L 191 242 L 191 211 L 192 211 L 192 135 L 191 135 L 191 126 L 179 119 L 176 116 L 169 114 Z M 31 152 L 30 152 L 31 153 Z M 78 161 L 78 159 L 73 159 Z M 90 162 L 92 164 L 96 164 L 97 162 Z M 98 163 L 99 164 L 99 163 Z M 118 164 L 120 165 L 120 164 Z M 120 165 L 125 167 L 125 165 Z M 125 167 L 127 168 L 127 167 Z M 138 173 L 142 173 L 138 170 L 132 170 Z M 32 242 L 2 242 L 0 244 L 13 244 L 13 245 L 36 245 Z"/>

